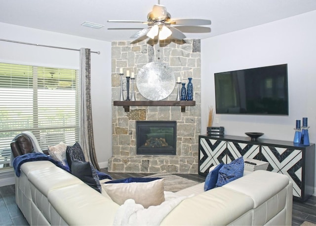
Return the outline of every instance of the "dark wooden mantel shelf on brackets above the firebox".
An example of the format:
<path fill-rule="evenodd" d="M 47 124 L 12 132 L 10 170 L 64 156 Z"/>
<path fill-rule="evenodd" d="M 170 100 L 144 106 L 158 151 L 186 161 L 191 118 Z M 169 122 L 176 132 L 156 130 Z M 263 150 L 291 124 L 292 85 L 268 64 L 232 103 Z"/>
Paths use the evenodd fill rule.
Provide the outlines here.
<path fill-rule="evenodd" d="M 196 101 L 114 101 L 114 106 L 123 106 L 129 112 L 129 106 L 181 106 L 181 112 L 186 112 L 186 106 L 196 106 Z"/>

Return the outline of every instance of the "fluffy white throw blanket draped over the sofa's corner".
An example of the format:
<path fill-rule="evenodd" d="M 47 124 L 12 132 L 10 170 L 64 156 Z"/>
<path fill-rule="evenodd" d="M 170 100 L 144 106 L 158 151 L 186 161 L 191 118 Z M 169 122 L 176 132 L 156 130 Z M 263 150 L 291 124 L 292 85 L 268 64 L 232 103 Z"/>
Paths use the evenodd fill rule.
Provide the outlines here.
<path fill-rule="evenodd" d="M 157 226 L 182 200 L 192 196 L 179 196 L 171 191 L 164 191 L 165 201 L 158 206 L 150 206 L 147 209 L 141 204 L 136 204 L 134 199 L 127 199 L 118 208 L 113 225 Z"/>

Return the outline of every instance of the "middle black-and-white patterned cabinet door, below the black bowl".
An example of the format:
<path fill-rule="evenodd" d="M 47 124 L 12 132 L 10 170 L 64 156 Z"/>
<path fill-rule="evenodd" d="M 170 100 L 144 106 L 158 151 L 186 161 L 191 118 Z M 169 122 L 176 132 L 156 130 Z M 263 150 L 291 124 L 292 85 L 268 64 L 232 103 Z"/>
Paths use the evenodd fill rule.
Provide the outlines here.
<path fill-rule="evenodd" d="M 227 142 L 227 162 L 229 163 L 240 156 L 259 159 L 259 145 Z"/>

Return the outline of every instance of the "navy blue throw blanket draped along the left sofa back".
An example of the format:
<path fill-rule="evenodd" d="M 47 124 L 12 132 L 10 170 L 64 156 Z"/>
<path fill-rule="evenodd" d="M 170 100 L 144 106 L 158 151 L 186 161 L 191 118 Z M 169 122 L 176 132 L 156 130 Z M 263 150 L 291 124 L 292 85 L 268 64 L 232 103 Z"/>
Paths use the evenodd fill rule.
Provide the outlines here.
<path fill-rule="evenodd" d="M 52 157 L 50 157 L 49 155 L 46 155 L 44 153 L 28 153 L 28 154 L 23 154 L 23 155 L 19 155 L 17 157 L 14 158 L 13 160 L 13 168 L 15 171 L 15 175 L 17 177 L 20 177 L 21 175 L 21 165 L 25 162 L 31 162 L 31 161 L 50 161 L 52 163 L 54 163 L 56 166 L 62 168 L 63 170 L 66 170 L 68 173 L 71 173 L 71 170 L 69 169 L 69 167 L 63 165 L 61 162 L 56 161 L 55 159 L 53 159 Z M 106 173 L 100 172 L 98 170 L 95 170 L 96 173 L 99 176 L 100 180 L 103 179 L 110 179 L 112 180 L 112 177 Z"/>

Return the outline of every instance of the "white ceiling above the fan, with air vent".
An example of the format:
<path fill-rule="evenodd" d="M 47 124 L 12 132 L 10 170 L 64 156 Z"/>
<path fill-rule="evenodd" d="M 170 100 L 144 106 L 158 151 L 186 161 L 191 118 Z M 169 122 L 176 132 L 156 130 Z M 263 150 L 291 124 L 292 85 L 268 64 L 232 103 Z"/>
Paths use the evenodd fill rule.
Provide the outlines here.
<path fill-rule="evenodd" d="M 147 25 L 108 20 L 147 20 L 158 0 L 0 0 L 0 22 L 106 41 L 132 40 Z M 210 33 L 186 33 L 209 38 L 316 10 L 316 0 L 161 0 L 172 19 L 209 19 Z M 83 27 L 84 21 L 104 25 Z M 5 32 L 5 31 L 1 31 Z M 295 32 L 295 28 L 293 28 Z M 1 38 L 0 33 L 0 38 Z"/>

